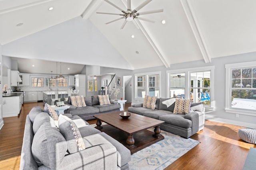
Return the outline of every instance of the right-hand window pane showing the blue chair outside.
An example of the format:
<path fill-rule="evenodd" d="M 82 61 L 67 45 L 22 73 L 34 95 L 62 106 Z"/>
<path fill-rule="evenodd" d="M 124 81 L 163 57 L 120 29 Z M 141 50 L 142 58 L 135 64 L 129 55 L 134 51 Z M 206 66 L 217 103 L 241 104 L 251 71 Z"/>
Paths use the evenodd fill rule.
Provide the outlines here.
<path fill-rule="evenodd" d="M 211 106 L 210 78 L 211 71 L 190 72 L 190 99 L 194 103 L 202 102 L 203 105 Z"/>

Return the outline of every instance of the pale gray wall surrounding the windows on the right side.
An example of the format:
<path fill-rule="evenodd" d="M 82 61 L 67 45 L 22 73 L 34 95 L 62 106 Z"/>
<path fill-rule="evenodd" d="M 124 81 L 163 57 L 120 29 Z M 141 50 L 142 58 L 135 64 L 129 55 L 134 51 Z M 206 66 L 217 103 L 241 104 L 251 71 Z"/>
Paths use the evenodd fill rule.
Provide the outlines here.
<path fill-rule="evenodd" d="M 154 67 L 154 68 L 145 68 L 134 70 L 133 73 L 144 73 L 144 72 L 155 72 L 161 71 L 161 97 L 166 98 L 166 70 L 176 70 L 182 68 L 193 68 L 193 67 L 202 67 L 202 66 L 215 66 L 214 69 L 214 103 L 215 108 L 214 111 L 210 113 L 206 113 L 206 119 L 220 121 L 224 123 L 230 123 L 234 125 L 241 125 L 245 127 L 256 128 L 256 113 L 255 116 L 249 115 L 239 115 L 236 117 L 234 113 L 226 113 L 225 112 L 225 64 L 231 63 L 242 63 L 242 62 L 250 62 L 256 61 L 256 52 L 246 53 L 240 55 L 232 55 L 227 57 L 219 57 L 212 59 L 211 63 L 204 63 L 203 60 L 186 62 L 180 64 L 171 64 L 170 68 L 166 68 L 164 66 Z M 132 78 L 132 86 L 134 86 L 134 74 Z M 134 100 L 134 88 L 132 88 L 132 103 L 138 103 L 137 100 Z M 139 101 L 141 103 L 142 101 Z"/>

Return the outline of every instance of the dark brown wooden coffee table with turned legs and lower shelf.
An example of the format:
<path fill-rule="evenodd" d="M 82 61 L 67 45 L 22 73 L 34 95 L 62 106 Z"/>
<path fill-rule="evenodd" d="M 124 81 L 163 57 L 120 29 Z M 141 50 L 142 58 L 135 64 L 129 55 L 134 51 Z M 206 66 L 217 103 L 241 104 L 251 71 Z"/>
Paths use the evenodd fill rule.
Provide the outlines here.
<path fill-rule="evenodd" d="M 160 134 L 160 125 L 164 121 L 135 113 L 131 113 L 132 115 L 128 119 L 123 119 L 119 115 L 119 113 L 123 112 L 116 111 L 94 115 L 97 119 L 95 128 L 122 143 L 130 149 L 131 154 L 164 139 L 164 136 Z M 108 125 L 101 126 L 101 121 Z M 154 132 L 146 130 L 150 127 L 155 127 Z"/>

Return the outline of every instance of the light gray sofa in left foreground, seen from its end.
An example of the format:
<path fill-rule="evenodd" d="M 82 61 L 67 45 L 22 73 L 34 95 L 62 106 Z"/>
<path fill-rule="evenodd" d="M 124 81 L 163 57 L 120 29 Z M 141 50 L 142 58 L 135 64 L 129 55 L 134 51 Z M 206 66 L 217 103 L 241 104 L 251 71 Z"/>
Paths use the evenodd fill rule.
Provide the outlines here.
<path fill-rule="evenodd" d="M 130 150 L 124 145 L 77 115 L 63 115 L 76 124 L 86 149 L 78 150 L 78 146 L 72 145 L 72 142 L 78 145 L 76 141 L 66 140 L 66 133 L 72 133 L 73 138 L 75 134 L 65 130 L 62 115 L 58 117 L 58 129 L 56 121 L 48 113 L 34 107 L 26 117 L 20 170 L 129 169 Z M 67 129 L 70 127 L 69 124 L 66 126 Z"/>

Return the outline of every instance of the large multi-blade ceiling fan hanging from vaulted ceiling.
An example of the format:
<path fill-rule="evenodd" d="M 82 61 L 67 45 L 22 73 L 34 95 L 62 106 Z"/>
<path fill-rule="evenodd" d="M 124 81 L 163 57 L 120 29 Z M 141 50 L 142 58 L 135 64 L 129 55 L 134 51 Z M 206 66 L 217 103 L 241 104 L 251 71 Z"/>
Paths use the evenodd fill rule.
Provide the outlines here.
<path fill-rule="evenodd" d="M 110 15 L 122 16 L 121 18 L 118 18 L 116 20 L 109 21 L 109 22 L 106 23 L 106 24 L 109 24 L 109 23 L 112 23 L 114 21 L 125 19 L 121 29 L 124 28 L 124 25 L 127 23 L 127 21 L 132 21 L 136 25 L 136 27 L 139 28 L 137 23 L 135 22 L 135 20 L 137 20 L 137 19 L 154 23 L 155 21 L 152 21 L 152 20 L 149 20 L 149 19 L 146 19 L 146 18 L 142 18 L 142 17 L 138 17 L 138 16 L 145 15 L 145 14 L 158 13 L 158 12 L 163 12 L 164 11 L 163 9 L 160 9 L 160 10 L 151 10 L 151 11 L 145 11 L 145 12 L 138 12 L 138 10 L 140 10 L 141 8 L 146 6 L 146 4 L 148 4 L 152 0 L 145 0 L 142 4 L 140 4 L 134 10 L 131 10 L 131 0 L 127 0 L 127 10 L 126 11 L 122 10 L 121 8 L 119 8 L 118 6 L 116 6 L 115 4 L 113 4 L 112 2 L 110 2 L 108 0 L 104 0 L 104 1 L 108 2 L 108 4 L 114 6 L 118 10 L 120 10 L 123 14 L 114 14 L 114 13 L 106 13 L 106 12 L 96 12 L 96 13 L 97 14 L 110 14 Z"/>

